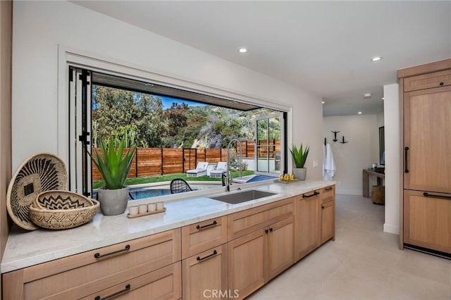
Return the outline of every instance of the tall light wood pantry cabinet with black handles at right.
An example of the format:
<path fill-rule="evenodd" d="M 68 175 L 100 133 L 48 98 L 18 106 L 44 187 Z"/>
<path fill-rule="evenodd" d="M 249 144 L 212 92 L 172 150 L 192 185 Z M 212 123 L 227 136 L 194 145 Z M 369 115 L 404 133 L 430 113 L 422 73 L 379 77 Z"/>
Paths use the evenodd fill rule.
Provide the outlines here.
<path fill-rule="evenodd" d="M 398 71 L 402 245 L 451 254 L 451 59 Z"/>

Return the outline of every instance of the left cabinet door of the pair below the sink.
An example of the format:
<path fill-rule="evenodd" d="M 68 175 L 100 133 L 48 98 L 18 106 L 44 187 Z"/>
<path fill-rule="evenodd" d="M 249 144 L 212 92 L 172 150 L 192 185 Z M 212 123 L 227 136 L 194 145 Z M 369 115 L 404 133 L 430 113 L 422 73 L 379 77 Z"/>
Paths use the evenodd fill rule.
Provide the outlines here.
<path fill-rule="evenodd" d="M 266 237 L 261 229 L 228 242 L 228 288 L 235 299 L 244 299 L 264 285 Z"/>

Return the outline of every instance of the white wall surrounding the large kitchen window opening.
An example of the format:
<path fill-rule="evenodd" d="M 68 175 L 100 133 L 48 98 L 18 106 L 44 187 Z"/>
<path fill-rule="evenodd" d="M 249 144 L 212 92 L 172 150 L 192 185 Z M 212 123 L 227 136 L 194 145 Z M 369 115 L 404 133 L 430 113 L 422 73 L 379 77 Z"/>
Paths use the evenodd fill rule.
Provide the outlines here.
<path fill-rule="evenodd" d="M 58 153 L 58 45 L 257 101 L 292 106 L 296 118 L 288 125 L 288 134 L 296 144 L 311 145 L 309 165 L 312 161 L 321 165 L 321 97 L 66 1 L 16 1 L 13 170 L 37 152 Z M 320 178 L 321 168 L 309 170 L 307 180 Z"/>

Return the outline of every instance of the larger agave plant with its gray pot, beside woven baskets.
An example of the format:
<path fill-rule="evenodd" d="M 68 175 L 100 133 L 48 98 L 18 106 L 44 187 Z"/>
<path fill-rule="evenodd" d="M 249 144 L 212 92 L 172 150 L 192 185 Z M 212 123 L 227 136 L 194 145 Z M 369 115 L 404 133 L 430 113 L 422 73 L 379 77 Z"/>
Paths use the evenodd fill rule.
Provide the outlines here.
<path fill-rule="evenodd" d="M 116 148 L 113 138 L 110 137 L 107 141 L 100 141 L 101 155 L 94 151 L 92 157 L 105 182 L 105 186 L 97 192 L 104 215 L 120 215 L 127 208 L 128 187 L 125 187 L 124 183 L 135 156 L 135 148 L 129 149 L 125 154 L 124 148 L 125 139 L 121 140 Z"/>

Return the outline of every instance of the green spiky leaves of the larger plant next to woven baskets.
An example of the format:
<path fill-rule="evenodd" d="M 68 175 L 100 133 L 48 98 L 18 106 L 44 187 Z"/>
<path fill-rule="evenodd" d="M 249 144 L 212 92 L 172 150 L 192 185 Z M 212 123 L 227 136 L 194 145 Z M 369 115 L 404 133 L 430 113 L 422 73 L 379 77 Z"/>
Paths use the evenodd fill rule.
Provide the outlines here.
<path fill-rule="evenodd" d="M 106 143 L 108 142 L 108 146 Z M 128 172 L 132 166 L 135 148 L 129 149 L 125 155 L 125 139 L 122 139 L 118 147 L 114 146 L 114 139 L 110 137 L 107 141 L 100 140 L 101 156 L 94 151 L 92 161 L 104 179 L 106 189 L 122 189 Z"/>

